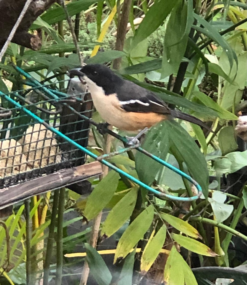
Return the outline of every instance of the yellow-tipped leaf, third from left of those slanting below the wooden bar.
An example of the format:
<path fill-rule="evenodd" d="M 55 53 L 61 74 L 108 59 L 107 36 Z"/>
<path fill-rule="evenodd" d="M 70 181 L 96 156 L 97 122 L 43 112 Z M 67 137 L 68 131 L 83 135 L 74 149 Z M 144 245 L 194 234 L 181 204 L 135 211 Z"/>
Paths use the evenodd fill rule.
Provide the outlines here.
<path fill-rule="evenodd" d="M 153 205 L 149 205 L 127 227 L 118 242 L 114 257 L 114 263 L 119 257 L 124 258 L 127 256 L 127 254 L 131 251 L 131 249 L 133 249 L 138 241 L 143 238 L 144 234 L 149 229 L 153 221 L 153 215 L 154 207 Z"/>

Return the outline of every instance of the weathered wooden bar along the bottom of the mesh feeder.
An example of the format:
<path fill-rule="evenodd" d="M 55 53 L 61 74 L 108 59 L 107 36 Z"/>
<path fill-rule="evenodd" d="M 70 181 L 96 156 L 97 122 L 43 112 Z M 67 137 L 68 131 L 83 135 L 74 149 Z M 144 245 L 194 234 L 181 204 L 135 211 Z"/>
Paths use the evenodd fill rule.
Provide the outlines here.
<path fill-rule="evenodd" d="M 94 161 L 75 168 L 63 169 L 49 175 L 0 189 L 0 209 L 69 184 L 102 174 L 100 162 Z"/>

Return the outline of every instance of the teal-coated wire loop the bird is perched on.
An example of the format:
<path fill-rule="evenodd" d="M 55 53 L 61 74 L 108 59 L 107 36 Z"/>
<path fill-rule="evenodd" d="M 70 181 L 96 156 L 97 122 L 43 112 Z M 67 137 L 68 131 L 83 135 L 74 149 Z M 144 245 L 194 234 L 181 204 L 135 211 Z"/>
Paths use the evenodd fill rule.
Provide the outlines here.
<path fill-rule="evenodd" d="M 40 87 L 42 90 L 44 90 L 48 95 L 50 95 L 52 98 L 54 98 L 56 101 L 59 99 L 59 97 L 57 95 L 62 95 L 62 92 L 59 92 L 60 94 L 54 94 L 53 90 L 50 88 L 46 88 L 45 86 L 43 86 L 42 84 L 40 84 L 40 82 L 38 82 L 36 79 L 34 79 L 32 76 L 30 76 L 29 74 L 27 74 L 26 72 L 24 72 L 21 68 L 19 68 L 18 66 L 15 66 L 15 68 L 17 69 L 18 72 L 20 72 L 22 75 L 24 75 L 26 78 L 28 78 L 33 84 L 35 84 L 36 86 Z M 33 85 L 32 84 L 32 85 Z M 31 85 L 31 84 L 30 84 Z M 65 94 L 65 93 L 64 93 Z M 92 152 L 90 152 L 89 150 L 87 150 L 87 148 L 82 147 L 81 145 L 77 144 L 76 142 L 74 142 L 73 140 L 71 140 L 70 138 L 68 138 L 67 136 L 65 136 L 64 134 L 62 134 L 61 132 L 57 131 L 56 129 L 54 129 L 53 127 L 51 127 L 50 125 L 48 125 L 45 121 L 43 121 L 42 119 L 40 119 L 38 116 L 36 116 L 35 114 L 33 114 L 32 112 L 30 112 L 29 110 L 25 109 L 24 107 L 22 107 L 19 103 L 15 102 L 13 99 L 11 99 L 10 97 L 8 97 L 7 95 L 5 95 L 4 93 L 2 93 L 0 91 L 0 95 L 5 96 L 5 98 L 10 101 L 11 103 L 13 103 L 14 105 L 16 105 L 19 108 L 22 108 L 24 110 L 24 112 L 26 112 L 28 115 L 30 115 L 31 117 L 33 117 L 34 119 L 36 119 L 36 121 L 42 123 L 43 125 L 45 125 L 48 129 L 50 129 L 52 132 L 56 133 L 57 135 L 59 135 L 60 137 L 63 137 L 63 139 L 65 139 L 66 141 L 68 141 L 69 143 L 73 144 L 74 146 L 76 146 L 77 148 L 79 148 L 80 150 L 82 150 L 83 152 L 87 153 L 89 156 L 91 156 L 92 158 L 96 159 L 98 158 L 97 155 L 93 154 Z M 67 94 L 66 94 L 67 95 Z M 72 111 L 74 111 L 75 113 L 77 113 L 77 115 L 79 115 L 80 117 L 82 117 L 83 119 L 89 120 L 92 123 L 92 120 L 89 119 L 88 117 L 78 113 L 77 111 L 75 111 L 71 106 L 67 105 L 65 103 L 65 105 L 67 107 L 69 107 Z M 123 137 L 121 137 L 120 135 L 108 130 L 108 133 L 110 135 L 113 135 L 114 137 L 116 137 L 117 139 L 121 140 L 122 142 L 126 143 L 127 140 Z M 121 169 L 117 168 L 116 166 L 114 166 L 113 164 L 107 162 L 106 160 L 102 159 L 102 158 L 107 158 L 108 154 L 105 154 L 103 156 L 101 156 L 100 158 L 100 162 L 105 164 L 106 166 L 108 166 L 109 168 L 115 170 L 116 172 L 126 176 L 127 178 L 129 178 L 130 180 L 132 180 L 133 182 L 135 182 L 136 184 L 138 184 L 139 186 L 144 187 L 145 189 L 153 192 L 153 194 L 155 194 L 156 196 L 158 196 L 158 198 L 160 199 L 171 199 L 171 200 L 178 200 L 178 201 L 194 201 L 197 200 L 201 194 L 202 194 L 202 189 L 201 186 L 192 178 L 190 177 L 188 174 L 182 172 L 180 169 L 172 166 L 171 164 L 165 162 L 164 160 L 160 159 L 159 157 L 147 152 L 146 150 L 144 150 L 141 147 L 137 147 L 136 148 L 138 151 L 146 154 L 147 156 L 149 156 L 150 158 L 154 159 L 155 161 L 159 162 L 160 164 L 162 164 L 163 166 L 166 166 L 167 168 L 169 168 L 170 170 L 176 172 L 177 174 L 179 174 L 180 176 L 183 176 L 184 178 L 186 178 L 188 181 L 190 181 L 192 184 L 194 184 L 194 186 L 197 188 L 198 190 L 198 194 L 197 196 L 193 196 L 193 197 L 176 197 L 173 195 L 169 195 L 169 194 L 165 194 L 162 192 L 159 192 L 153 188 L 151 188 L 150 186 L 146 185 L 145 183 L 137 180 L 136 178 L 134 178 L 133 176 L 129 175 L 128 173 L 122 171 Z M 122 150 L 120 150 L 119 153 L 125 152 L 127 150 L 127 148 L 123 148 Z"/>

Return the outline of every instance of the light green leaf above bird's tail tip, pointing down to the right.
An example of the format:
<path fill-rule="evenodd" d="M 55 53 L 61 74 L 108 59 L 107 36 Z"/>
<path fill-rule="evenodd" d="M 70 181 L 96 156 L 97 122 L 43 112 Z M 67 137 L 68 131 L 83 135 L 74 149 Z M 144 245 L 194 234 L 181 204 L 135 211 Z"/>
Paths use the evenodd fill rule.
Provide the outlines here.
<path fill-rule="evenodd" d="M 211 99 L 209 96 L 204 94 L 200 91 L 194 91 L 193 95 L 198 98 L 204 105 L 207 107 L 210 107 L 211 109 L 215 110 L 219 117 L 225 120 L 237 120 L 238 117 L 231 112 L 227 111 L 226 109 L 219 106 L 213 99 Z"/>

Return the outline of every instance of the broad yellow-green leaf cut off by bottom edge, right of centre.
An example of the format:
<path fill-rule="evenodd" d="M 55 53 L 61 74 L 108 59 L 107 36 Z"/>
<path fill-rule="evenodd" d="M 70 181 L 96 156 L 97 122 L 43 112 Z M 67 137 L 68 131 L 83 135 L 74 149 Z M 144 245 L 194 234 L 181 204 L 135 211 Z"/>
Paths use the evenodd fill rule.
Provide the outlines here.
<path fill-rule="evenodd" d="M 179 264 L 179 269 L 178 269 Z M 191 268 L 173 246 L 164 270 L 164 283 L 167 285 L 198 285 Z"/>

